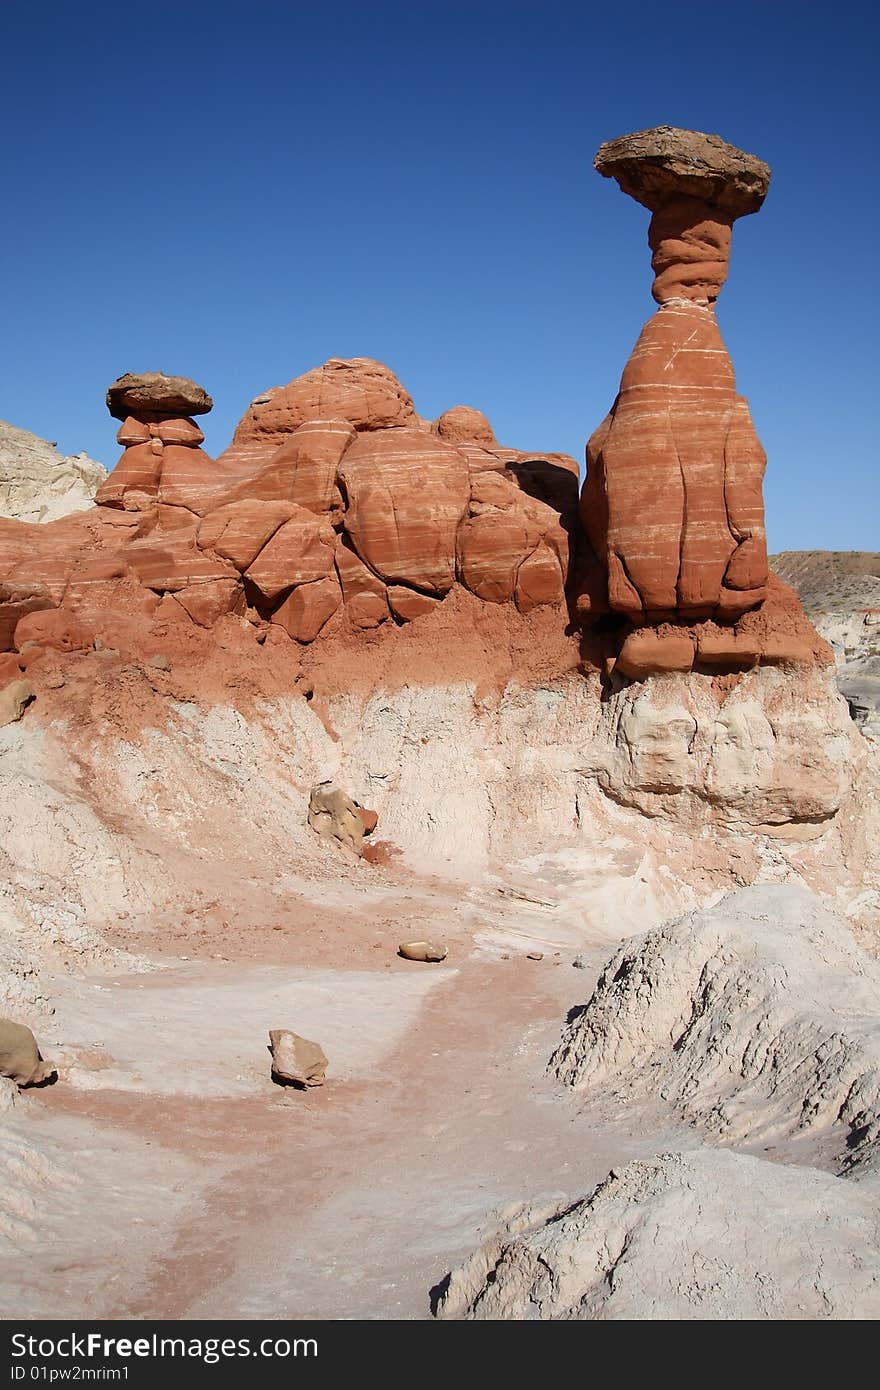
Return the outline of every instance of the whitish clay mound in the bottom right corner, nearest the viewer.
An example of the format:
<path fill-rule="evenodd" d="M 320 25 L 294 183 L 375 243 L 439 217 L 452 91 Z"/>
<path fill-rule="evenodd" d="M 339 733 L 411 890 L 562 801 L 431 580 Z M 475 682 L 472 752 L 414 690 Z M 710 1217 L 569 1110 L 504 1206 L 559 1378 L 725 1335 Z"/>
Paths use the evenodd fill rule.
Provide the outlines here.
<path fill-rule="evenodd" d="M 876 1193 L 701 1150 L 628 1163 L 574 1205 L 521 1211 L 449 1277 L 449 1319 L 880 1315 Z"/>

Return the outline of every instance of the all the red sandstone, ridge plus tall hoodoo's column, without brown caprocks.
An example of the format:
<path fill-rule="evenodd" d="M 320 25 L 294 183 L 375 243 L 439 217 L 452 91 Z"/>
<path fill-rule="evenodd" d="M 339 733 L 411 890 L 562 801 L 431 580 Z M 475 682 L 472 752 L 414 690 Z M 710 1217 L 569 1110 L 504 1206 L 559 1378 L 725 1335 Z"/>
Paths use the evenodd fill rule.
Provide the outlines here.
<path fill-rule="evenodd" d="M 651 229 L 663 304 L 589 443 L 592 545 L 574 460 L 502 449 L 468 407 L 431 425 L 375 363 L 331 361 L 270 393 L 272 410 L 242 423 L 245 452 L 225 463 L 203 453 L 202 431 L 179 413 L 189 402 L 121 403 L 125 453 L 101 493 L 108 505 L 49 525 L 0 520 L 0 651 L 17 627 L 25 634 L 0 676 L 17 680 L 44 651 L 72 649 L 74 626 L 125 651 L 168 623 L 189 628 L 178 641 L 196 641 L 192 624 L 220 623 L 221 641 L 246 627 L 253 642 L 229 614 L 281 656 L 284 632 L 311 642 L 341 607 L 331 631 L 342 638 L 392 614 L 438 613 L 456 580 L 521 614 L 559 607 L 564 624 L 571 569 L 584 623 L 609 607 L 637 623 L 621 676 L 694 660 L 708 670 L 829 662 L 797 596 L 766 574 L 763 450 L 710 307 L 733 213 L 677 193 L 669 170 L 663 178 Z M 460 595 L 452 612 L 459 602 L 474 600 Z M 58 639 L 39 645 L 32 630 Z M 616 645 L 606 624 L 591 652 L 613 663 Z"/>

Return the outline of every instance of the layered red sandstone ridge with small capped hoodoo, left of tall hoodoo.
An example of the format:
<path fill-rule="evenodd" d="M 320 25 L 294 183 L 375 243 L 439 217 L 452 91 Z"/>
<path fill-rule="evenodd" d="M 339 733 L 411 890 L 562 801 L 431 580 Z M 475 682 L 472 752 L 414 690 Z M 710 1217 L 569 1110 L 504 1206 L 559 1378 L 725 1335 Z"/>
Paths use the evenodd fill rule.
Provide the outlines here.
<path fill-rule="evenodd" d="M 40 609 L 104 641 L 122 612 L 142 641 L 235 616 L 257 642 L 309 644 L 417 621 L 460 587 L 566 626 L 574 460 L 500 448 L 471 407 L 423 421 L 380 363 L 334 359 L 267 393 L 217 460 L 188 378 L 129 373 L 107 406 L 124 452 L 97 506 L 39 541 L 0 531 L 1 651 Z"/>

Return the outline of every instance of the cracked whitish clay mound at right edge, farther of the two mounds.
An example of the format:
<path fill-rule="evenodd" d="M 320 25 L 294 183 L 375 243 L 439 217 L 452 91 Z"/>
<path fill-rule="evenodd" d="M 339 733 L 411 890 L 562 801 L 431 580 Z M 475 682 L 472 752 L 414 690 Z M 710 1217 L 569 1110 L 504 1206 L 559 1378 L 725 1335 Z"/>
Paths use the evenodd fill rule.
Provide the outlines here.
<path fill-rule="evenodd" d="M 582 1094 L 659 1095 L 727 1144 L 880 1158 L 880 963 L 812 894 L 762 885 L 624 942 L 551 1061 Z"/>

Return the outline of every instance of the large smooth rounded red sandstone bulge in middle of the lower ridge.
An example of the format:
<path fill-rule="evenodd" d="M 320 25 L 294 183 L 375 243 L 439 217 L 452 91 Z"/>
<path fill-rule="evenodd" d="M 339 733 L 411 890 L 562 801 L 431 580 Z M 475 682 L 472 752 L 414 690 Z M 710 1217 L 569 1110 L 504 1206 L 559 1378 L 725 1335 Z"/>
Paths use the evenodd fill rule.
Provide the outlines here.
<path fill-rule="evenodd" d="M 463 455 L 417 430 L 374 430 L 345 453 L 339 477 L 345 527 L 361 559 L 386 582 L 448 592 L 470 496 Z"/>

